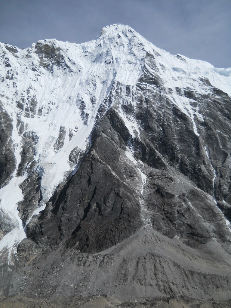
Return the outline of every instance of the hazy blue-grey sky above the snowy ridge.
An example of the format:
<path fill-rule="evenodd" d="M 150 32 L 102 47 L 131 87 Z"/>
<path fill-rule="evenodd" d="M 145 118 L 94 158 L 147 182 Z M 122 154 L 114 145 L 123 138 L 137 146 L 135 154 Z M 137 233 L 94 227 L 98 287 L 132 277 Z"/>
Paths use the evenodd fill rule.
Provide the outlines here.
<path fill-rule="evenodd" d="M 18 48 L 88 42 L 114 23 L 173 55 L 231 67 L 231 0 L 0 0 L 0 42 Z"/>

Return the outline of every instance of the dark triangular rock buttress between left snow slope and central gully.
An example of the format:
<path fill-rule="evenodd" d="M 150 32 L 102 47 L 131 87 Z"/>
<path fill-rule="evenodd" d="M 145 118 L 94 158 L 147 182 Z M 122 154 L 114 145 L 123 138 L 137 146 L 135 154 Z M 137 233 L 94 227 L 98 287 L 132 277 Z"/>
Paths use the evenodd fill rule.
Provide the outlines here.
<path fill-rule="evenodd" d="M 64 242 L 81 252 L 96 252 L 133 234 L 141 226 L 139 194 L 126 181 L 139 175 L 121 158 L 128 138 L 118 114 L 109 111 L 78 172 L 57 190 L 37 227 L 29 226 L 28 236 L 43 245 Z"/>

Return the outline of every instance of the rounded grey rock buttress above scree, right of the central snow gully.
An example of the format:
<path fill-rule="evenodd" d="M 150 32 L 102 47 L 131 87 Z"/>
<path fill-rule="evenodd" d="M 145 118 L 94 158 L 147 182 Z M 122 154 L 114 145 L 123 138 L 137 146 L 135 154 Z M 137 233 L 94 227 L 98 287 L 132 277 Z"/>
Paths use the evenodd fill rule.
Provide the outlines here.
<path fill-rule="evenodd" d="M 170 238 L 180 238 L 193 248 L 207 243 L 215 234 L 220 241 L 229 242 L 229 231 L 223 231 L 224 225 L 221 228 L 222 215 L 209 195 L 172 172 L 153 170 L 150 175 L 146 204 L 153 213 L 155 230 Z"/>

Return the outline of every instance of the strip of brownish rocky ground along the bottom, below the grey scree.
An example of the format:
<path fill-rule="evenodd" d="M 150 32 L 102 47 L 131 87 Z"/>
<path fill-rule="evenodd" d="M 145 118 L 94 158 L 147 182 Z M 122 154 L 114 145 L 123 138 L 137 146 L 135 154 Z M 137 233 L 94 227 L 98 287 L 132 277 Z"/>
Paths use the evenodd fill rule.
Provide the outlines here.
<path fill-rule="evenodd" d="M 0 298 L 1 308 L 229 308 L 231 300 L 206 301 L 198 299 L 178 298 L 144 298 L 142 301 L 126 302 L 119 301 L 111 296 L 72 296 L 69 298 L 59 297 L 55 300 L 43 300 L 39 298 L 27 298 L 20 295 L 14 295 L 9 298 L 2 296 Z"/>

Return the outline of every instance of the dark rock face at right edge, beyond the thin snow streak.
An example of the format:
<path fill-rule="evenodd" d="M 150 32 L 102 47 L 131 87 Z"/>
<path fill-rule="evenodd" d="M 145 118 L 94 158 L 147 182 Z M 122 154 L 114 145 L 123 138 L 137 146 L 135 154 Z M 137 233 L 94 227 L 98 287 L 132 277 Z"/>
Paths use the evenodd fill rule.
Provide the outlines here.
<path fill-rule="evenodd" d="M 217 176 L 214 183 L 215 198 L 230 205 L 231 99 L 216 88 L 211 87 L 211 92 L 209 97 L 201 97 L 201 114 L 206 120 L 198 125 L 198 131 L 205 140 L 210 165 Z"/>

